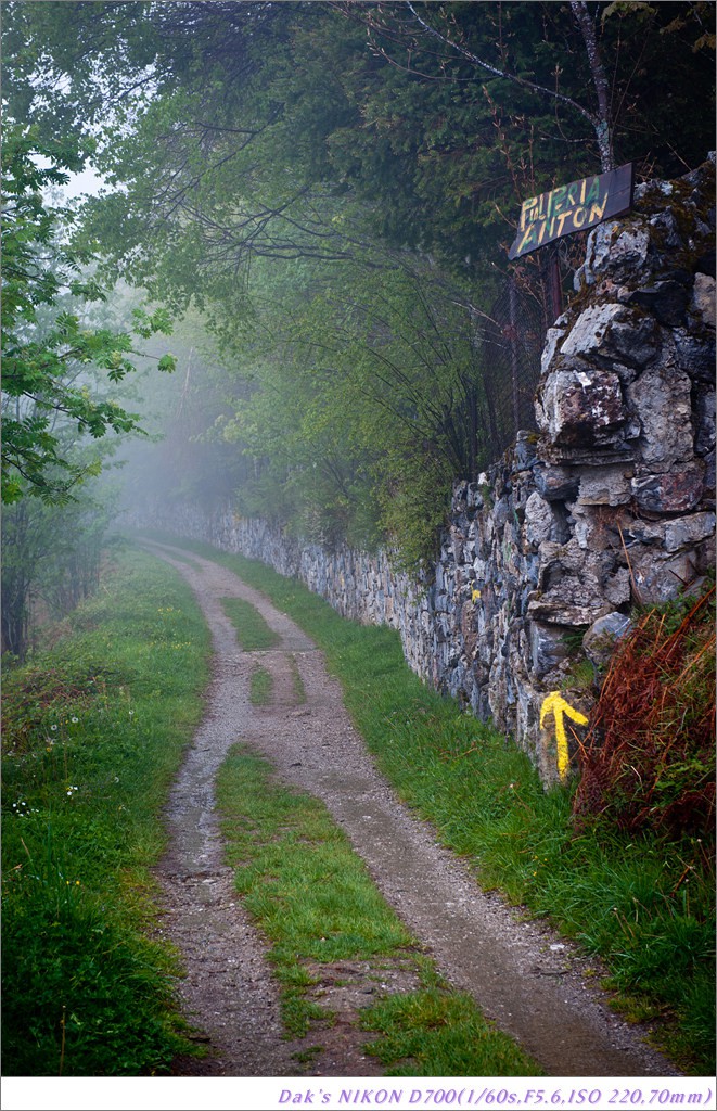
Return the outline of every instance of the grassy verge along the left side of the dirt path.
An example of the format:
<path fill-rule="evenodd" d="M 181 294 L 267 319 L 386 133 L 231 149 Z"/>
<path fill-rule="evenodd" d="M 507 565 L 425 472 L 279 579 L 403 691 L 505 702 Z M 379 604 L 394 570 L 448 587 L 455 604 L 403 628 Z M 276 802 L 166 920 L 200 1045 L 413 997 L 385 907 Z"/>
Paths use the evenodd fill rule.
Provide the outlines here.
<path fill-rule="evenodd" d="M 160 1074 L 190 1047 L 149 870 L 209 631 L 176 572 L 140 553 L 65 623 L 3 683 L 3 1072 Z"/>

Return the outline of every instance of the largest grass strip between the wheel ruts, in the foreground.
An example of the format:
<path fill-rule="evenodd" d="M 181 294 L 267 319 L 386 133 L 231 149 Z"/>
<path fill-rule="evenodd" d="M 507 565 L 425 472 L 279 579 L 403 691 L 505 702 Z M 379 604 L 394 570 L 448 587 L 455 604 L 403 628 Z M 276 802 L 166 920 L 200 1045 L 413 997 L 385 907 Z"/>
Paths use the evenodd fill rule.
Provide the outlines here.
<path fill-rule="evenodd" d="M 378 1034 L 366 1052 L 386 1075 L 541 1074 L 468 995 L 437 982 L 323 803 L 274 781 L 271 764 L 240 745 L 220 769 L 216 795 L 236 889 L 272 947 L 290 1034 L 321 1039 L 314 1023 L 332 1021 L 312 998 L 322 968 L 365 961 L 378 980 L 395 960 L 422 987 L 361 1011 L 361 1027 Z"/>

